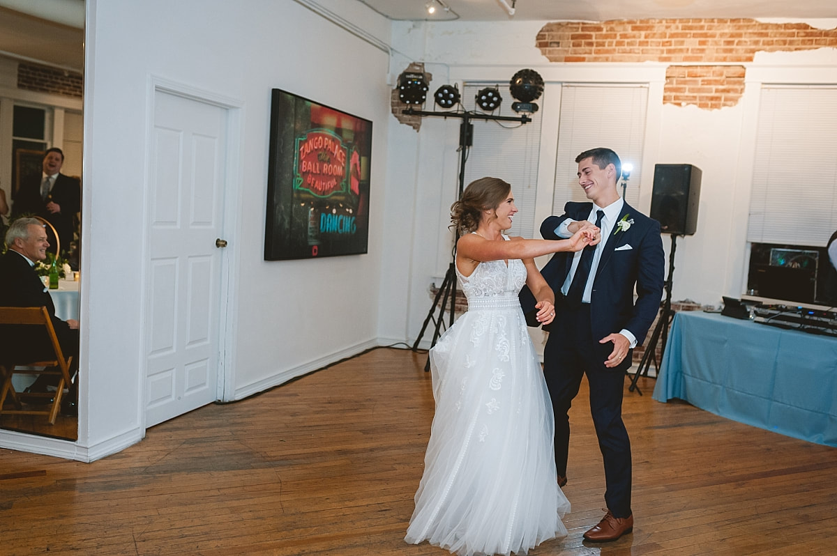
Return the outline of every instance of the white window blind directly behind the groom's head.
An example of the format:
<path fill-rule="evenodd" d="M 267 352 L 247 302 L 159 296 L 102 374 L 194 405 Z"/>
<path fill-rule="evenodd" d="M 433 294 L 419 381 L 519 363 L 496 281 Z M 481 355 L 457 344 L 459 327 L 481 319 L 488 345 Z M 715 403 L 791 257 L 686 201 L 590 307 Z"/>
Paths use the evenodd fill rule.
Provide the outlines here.
<path fill-rule="evenodd" d="M 634 165 L 625 201 L 636 207 L 642 182 L 642 149 L 648 87 L 644 84 L 565 84 L 561 93 L 555 190 L 552 213 L 562 214 L 567 201 L 588 201 L 578 186 L 576 156 L 596 147 L 613 149 L 622 164 Z M 619 195 L 622 181 L 619 181 Z"/>

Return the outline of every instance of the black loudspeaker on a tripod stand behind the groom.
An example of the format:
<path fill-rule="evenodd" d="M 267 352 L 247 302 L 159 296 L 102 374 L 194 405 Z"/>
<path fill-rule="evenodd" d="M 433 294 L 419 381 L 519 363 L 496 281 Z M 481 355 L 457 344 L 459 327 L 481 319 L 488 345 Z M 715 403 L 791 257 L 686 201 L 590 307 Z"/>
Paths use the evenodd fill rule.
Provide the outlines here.
<path fill-rule="evenodd" d="M 669 275 L 665 278 L 665 301 L 660 307 L 657 325 L 651 333 L 651 339 L 645 346 L 642 360 L 639 361 L 630 381 L 629 391 L 642 392 L 636 385 L 639 375 L 648 376 L 651 361 L 659 375 L 660 364 L 656 360 L 657 344 L 660 344 L 660 357 L 665 353 L 665 342 L 669 337 L 669 325 L 675 312 L 671 310 L 671 283 L 675 273 L 675 250 L 677 236 L 691 236 L 697 229 L 697 207 L 701 197 L 701 169 L 691 164 L 657 164 L 654 166 L 654 190 L 651 193 L 651 214 L 663 233 L 671 235 L 669 251 Z"/>

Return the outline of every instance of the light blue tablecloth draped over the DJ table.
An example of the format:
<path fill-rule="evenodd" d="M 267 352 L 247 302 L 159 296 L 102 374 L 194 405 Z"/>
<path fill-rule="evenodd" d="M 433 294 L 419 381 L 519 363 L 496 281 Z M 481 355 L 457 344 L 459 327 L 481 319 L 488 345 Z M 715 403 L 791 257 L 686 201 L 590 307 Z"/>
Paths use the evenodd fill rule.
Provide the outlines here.
<path fill-rule="evenodd" d="M 675 314 L 654 399 L 837 446 L 837 338 L 720 314 Z"/>

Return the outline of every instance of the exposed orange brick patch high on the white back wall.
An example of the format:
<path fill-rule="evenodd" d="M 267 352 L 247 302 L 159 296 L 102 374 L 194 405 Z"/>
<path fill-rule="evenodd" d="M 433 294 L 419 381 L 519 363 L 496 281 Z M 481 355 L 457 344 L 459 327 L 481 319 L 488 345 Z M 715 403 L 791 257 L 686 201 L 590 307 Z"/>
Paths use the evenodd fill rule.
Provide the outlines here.
<path fill-rule="evenodd" d="M 537 33 L 536 45 L 551 62 L 690 64 L 666 73 L 664 102 L 714 110 L 741 98 L 744 69 L 731 64 L 752 62 L 757 52 L 837 48 L 837 28 L 754 19 L 555 22 Z"/>

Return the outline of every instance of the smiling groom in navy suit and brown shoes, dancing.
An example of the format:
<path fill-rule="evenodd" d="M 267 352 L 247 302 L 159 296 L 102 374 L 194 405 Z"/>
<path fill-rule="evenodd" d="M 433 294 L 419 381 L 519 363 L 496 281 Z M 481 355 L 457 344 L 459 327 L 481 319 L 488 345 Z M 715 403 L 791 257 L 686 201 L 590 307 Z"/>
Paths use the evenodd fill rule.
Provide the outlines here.
<path fill-rule="evenodd" d="M 601 228 L 602 241 L 581 252 L 556 253 L 542 270 L 556 298 L 555 319 L 544 327 L 550 334 L 543 371 L 555 412 L 555 462 L 561 486 L 567 482 L 567 412 L 583 375 L 587 375 L 590 411 L 604 460 L 608 513 L 584 538 L 605 542 L 634 528 L 630 441 L 622 422 L 622 392 L 632 349 L 644 340 L 660 308 L 664 256 L 660 223 L 619 197 L 619 156 L 613 150 L 597 148 L 584 151 L 575 161 L 578 185 L 593 202 L 567 202 L 562 216 L 543 222 L 541 234 L 546 239 L 561 239 L 595 225 Z M 529 290 L 523 288 L 524 313 L 534 315 L 534 304 Z"/>

